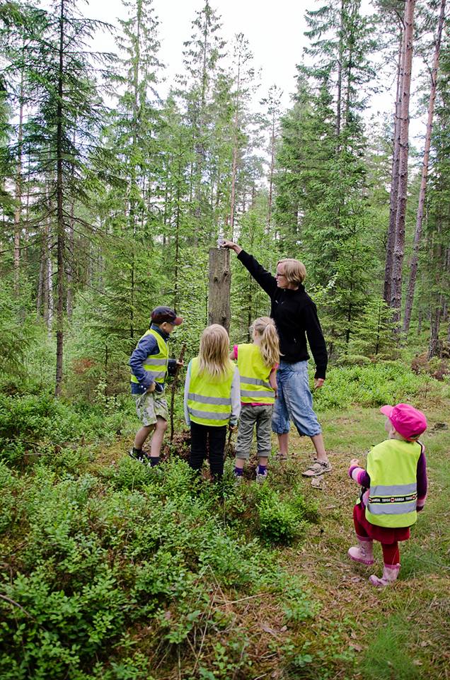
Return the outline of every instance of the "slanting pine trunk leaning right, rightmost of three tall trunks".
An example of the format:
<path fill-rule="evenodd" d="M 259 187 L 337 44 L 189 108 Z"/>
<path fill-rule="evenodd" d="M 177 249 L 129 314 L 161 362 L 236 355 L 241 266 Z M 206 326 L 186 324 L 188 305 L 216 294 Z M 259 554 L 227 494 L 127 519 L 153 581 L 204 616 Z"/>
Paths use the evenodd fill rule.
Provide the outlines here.
<path fill-rule="evenodd" d="M 428 117 L 427 117 L 427 135 L 425 137 L 425 150 L 422 162 L 422 180 L 420 182 L 419 205 L 417 207 L 417 218 L 415 223 L 414 245 L 412 248 L 412 260 L 410 280 L 408 283 L 408 293 L 406 295 L 405 317 L 403 319 L 403 332 L 408 333 L 410 329 L 412 303 L 414 301 L 415 280 L 417 277 L 417 262 L 419 260 L 420 238 L 422 237 L 422 222 L 425 208 L 425 195 L 427 192 L 427 178 L 428 178 L 428 164 L 429 164 L 429 148 L 431 146 L 431 137 L 433 129 L 433 115 L 434 103 L 436 101 L 436 86 L 437 86 L 437 69 L 439 67 L 439 53 L 441 50 L 442 28 L 445 20 L 445 4 L 446 0 L 441 0 L 441 12 L 439 14 L 439 23 L 437 26 L 437 36 L 434 45 L 433 67 L 431 72 L 431 88 L 429 91 L 428 102 Z"/>

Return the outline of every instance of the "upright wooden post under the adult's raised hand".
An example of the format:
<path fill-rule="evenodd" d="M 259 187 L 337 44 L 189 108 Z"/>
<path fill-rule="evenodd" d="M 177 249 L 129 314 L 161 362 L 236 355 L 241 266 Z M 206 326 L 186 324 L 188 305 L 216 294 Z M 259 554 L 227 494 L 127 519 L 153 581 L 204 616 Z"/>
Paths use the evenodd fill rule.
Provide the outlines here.
<path fill-rule="evenodd" d="M 228 249 L 209 249 L 208 322 L 230 329 L 230 252 Z"/>

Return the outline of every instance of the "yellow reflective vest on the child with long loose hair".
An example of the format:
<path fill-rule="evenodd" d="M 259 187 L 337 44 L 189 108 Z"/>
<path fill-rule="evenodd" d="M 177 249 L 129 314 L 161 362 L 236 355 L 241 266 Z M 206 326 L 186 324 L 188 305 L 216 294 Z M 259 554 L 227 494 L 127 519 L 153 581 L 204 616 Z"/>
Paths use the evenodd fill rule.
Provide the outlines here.
<path fill-rule="evenodd" d="M 234 368 L 231 365 L 224 378 L 214 380 L 206 371 L 199 373 L 198 365 L 198 357 L 192 359 L 188 392 L 190 419 L 200 425 L 226 425 L 231 416 Z"/>

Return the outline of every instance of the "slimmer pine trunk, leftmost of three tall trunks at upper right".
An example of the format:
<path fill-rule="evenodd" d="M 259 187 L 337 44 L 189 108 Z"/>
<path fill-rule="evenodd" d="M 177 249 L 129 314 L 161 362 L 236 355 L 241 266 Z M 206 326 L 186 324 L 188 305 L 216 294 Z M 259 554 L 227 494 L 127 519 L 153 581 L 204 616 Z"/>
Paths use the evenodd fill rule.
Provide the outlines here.
<path fill-rule="evenodd" d="M 393 251 L 396 245 L 396 219 L 398 198 L 398 164 L 400 160 L 400 103 L 402 93 L 402 79 L 405 64 L 405 29 L 400 33 L 398 46 L 397 92 L 394 109 L 393 154 L 391 173 L 391 194 L 389 198 L 389 227 L 386 242 L 386 265 L 384 268 L 383 298 L 387 305 L 391 304 Z"/>

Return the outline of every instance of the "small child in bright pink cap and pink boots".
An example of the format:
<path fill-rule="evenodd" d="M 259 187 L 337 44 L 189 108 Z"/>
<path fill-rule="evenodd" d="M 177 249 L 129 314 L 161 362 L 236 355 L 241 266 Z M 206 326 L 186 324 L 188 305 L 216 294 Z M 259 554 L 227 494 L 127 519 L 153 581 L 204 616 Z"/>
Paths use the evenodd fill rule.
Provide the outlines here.
<path fill-rule="evenodd" d="M 427 429 L 425 415 L 410 404 L 383 406 L 388 439 L 374 446 L 367 455 L 364 470 L 359 461 L 350 461 L 348 473 L 362 489 L 353 509 L 358 544 L 348 555 L 355 562 L 374 564 L 374 540 L 383 549 L 383 575 L 372 574 L 374 586 L 386 586 L 398 577 L 398 541 L 410 538 L 410 526 L 417 519 L 427 497 L 425 447 L 418 438 Z"/>

